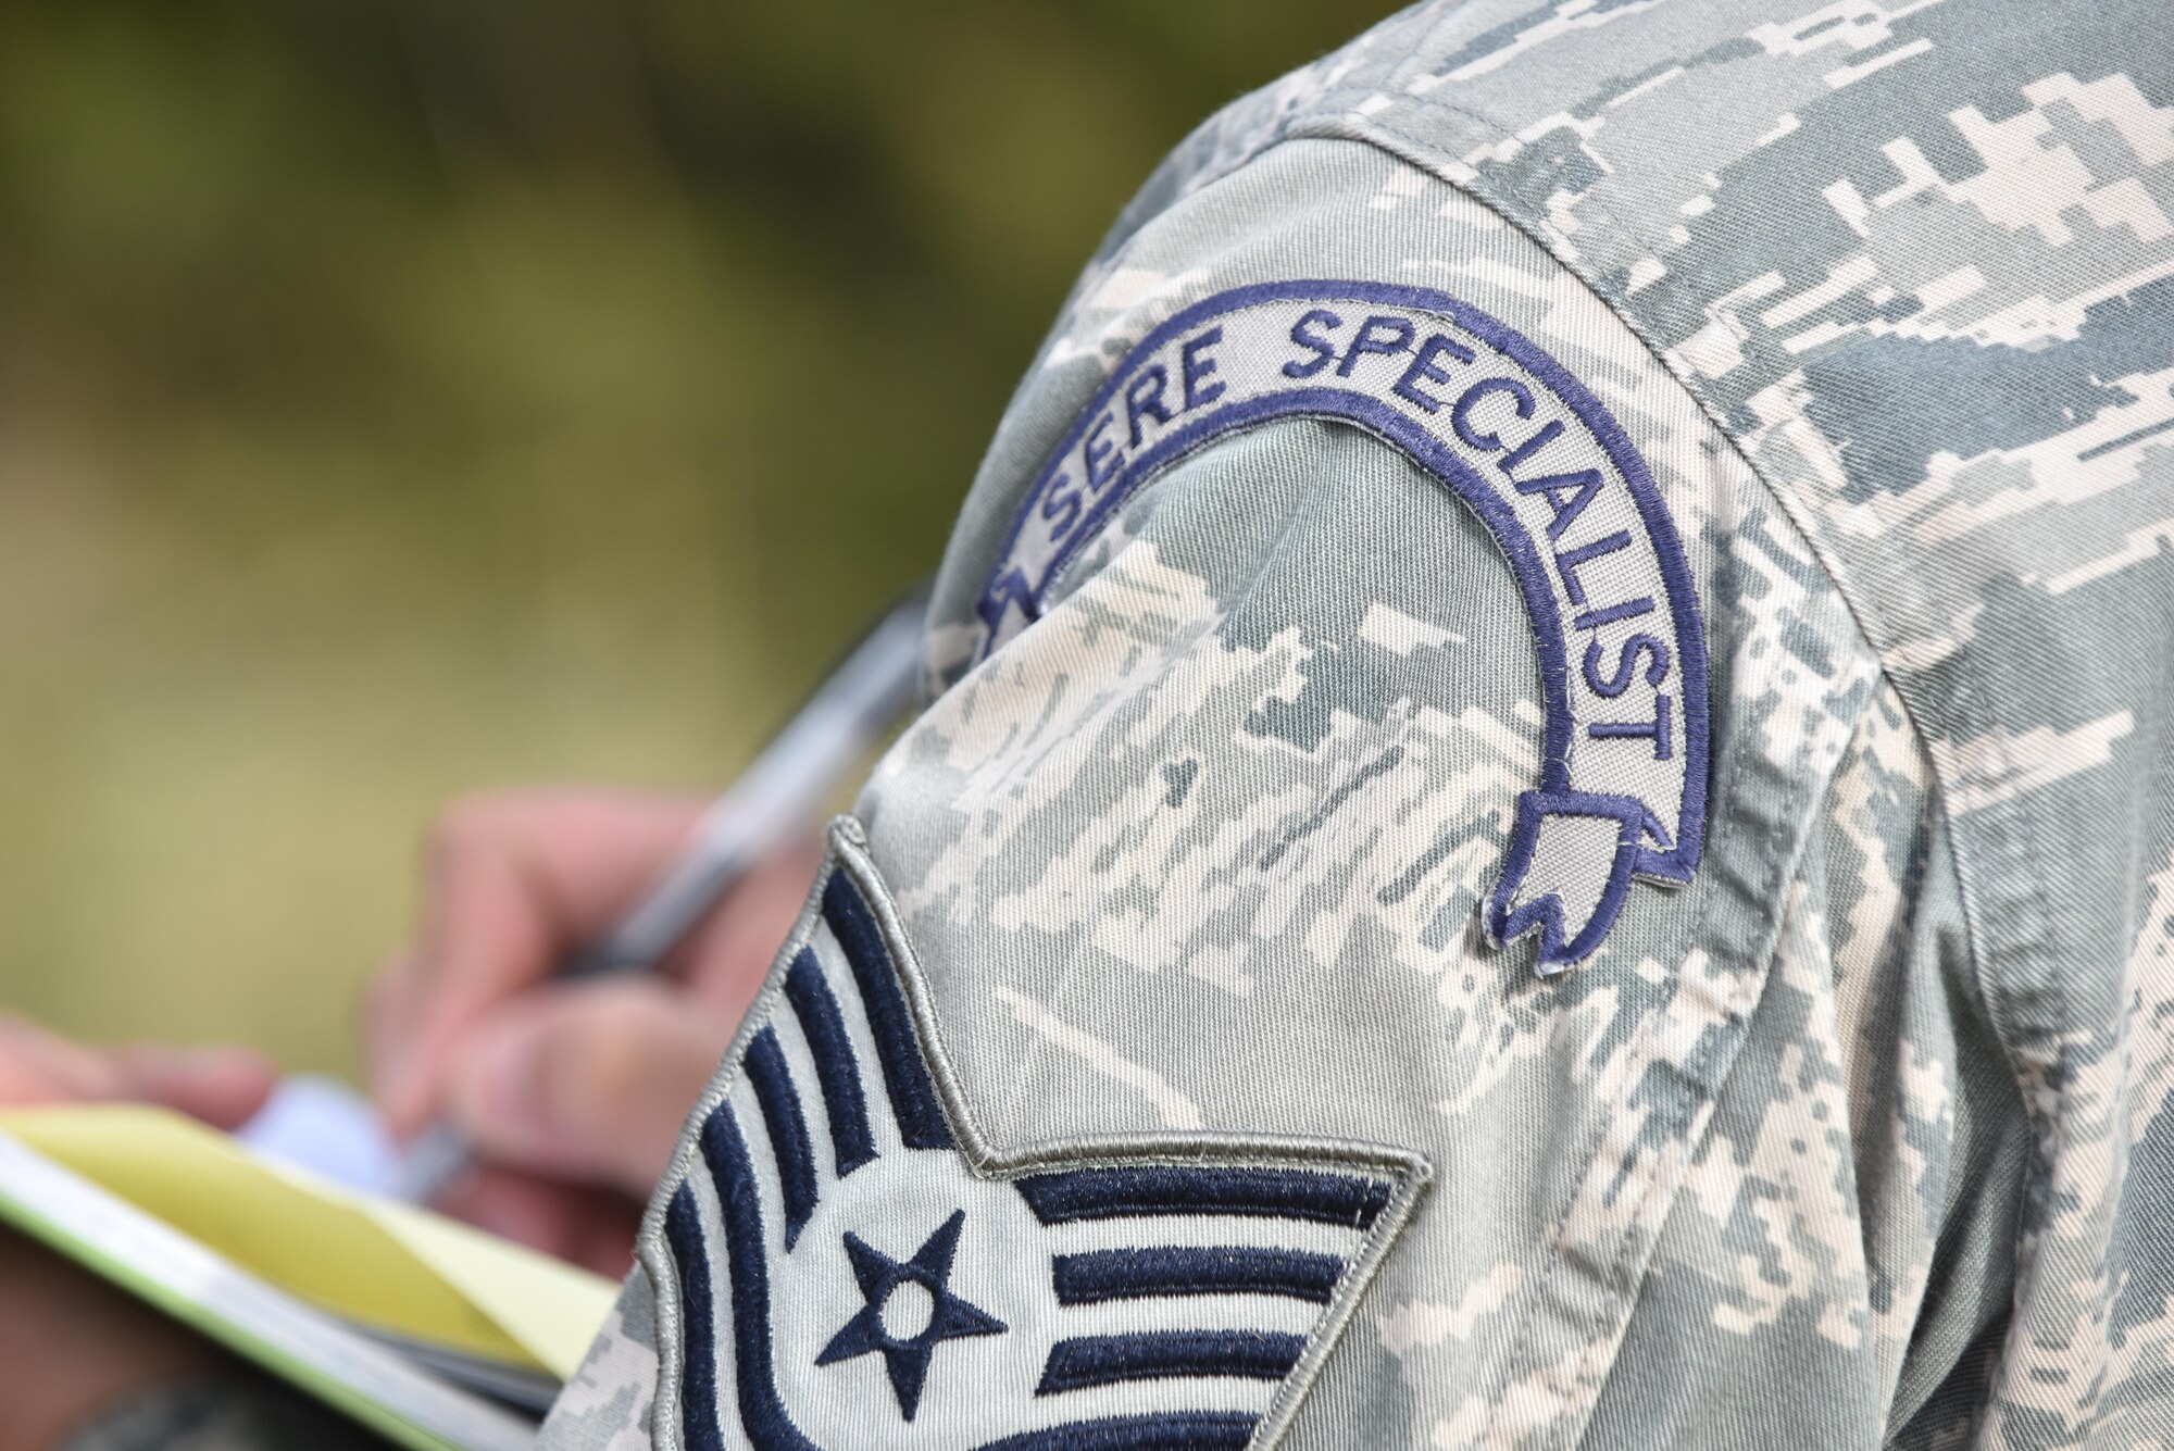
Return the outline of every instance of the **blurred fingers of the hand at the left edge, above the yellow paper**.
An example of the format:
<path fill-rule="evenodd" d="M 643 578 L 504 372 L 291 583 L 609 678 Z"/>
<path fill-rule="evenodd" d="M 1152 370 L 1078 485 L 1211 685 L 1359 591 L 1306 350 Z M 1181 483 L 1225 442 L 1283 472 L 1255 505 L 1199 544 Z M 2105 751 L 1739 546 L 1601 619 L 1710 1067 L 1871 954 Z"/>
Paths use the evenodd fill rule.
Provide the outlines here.
<path fill-rule="evenodd" d="M 278 1071 L 257 1051 L 161 1045 L 85 1047 L 0 1012 L 0 1103 L 139 1101 L 239 1127 L 263 1108 Z"/>

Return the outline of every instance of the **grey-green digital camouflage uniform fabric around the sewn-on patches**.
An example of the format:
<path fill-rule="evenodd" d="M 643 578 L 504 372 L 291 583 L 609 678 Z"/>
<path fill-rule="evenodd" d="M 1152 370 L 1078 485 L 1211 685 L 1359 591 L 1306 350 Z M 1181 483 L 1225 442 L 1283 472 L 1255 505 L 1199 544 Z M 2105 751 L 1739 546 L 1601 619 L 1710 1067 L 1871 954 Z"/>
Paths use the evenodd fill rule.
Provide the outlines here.
<path fill-rule="evenodd" d="M 1428 4 L 1180 146 L 1020 387 L 939 582 L 933 702 L 835 832 L 880 932 L 811 904 L 546 1444 L 2174 1444 L 2170 20 Z M 1030 608 L 985 608 L 1135 345 L 1294 282 L 1426 289 L 1526 339 L 1681 541 L 1702 858 L 1565 971 L 1483 923 L 1552 769 L 1546 632 L 1500 528 L 1387 424 L 1172 450 Z M 1422 332 L 1359 348 L 1367 306 L 1335 308 L 1339 387 L 1387 404 Z M 1198 358 L 1224 361 L 1187 395 L 1209 408 L 1241 358 Z M 1444 402 L 1478 376 L 1435 363 Z M 1180 393 L 1113 415 L 1109 458 L 1148 458 Z M 809 1149 L 844 1119 L 787 991 L 802 949 L 861 984 L 863 1097 L 907 1123 L 878 1156 L 902 1186 L 852 1201 L 894 1266 L 859 1286 L 846 1247 L 789 1238 L 874 1182 Z M 1370 1249 L 1307 1240 L 1328 1310 L 1276 1321 L 1274 1364 L 1230 1347 L 1283 1310 L 1204 1279 L 1161 1329 L 1004 1360 L 1041 1310 L 989 1297 L 1074 1251 L 1028 1219 L 930 1232 L 1111 1153 L 1165 1199 L 1307 1153 L 1409 1156 L 1426 1186 Z M 1170 1262 L 1183 1236 L 1141 1223 L 1091 1253 Z M 854 1321 L 846 1355 L 915 1247 L 915 1284 L 1000 1329 L 878 1347 Z M 750 1277 L 809 1256 L 835 1284 L 750 1332 Z M 824 1338 L 828 1364 L 774 1349 Z M 1078 1366 L 1130 1366 L 1085 1418 Z"/>

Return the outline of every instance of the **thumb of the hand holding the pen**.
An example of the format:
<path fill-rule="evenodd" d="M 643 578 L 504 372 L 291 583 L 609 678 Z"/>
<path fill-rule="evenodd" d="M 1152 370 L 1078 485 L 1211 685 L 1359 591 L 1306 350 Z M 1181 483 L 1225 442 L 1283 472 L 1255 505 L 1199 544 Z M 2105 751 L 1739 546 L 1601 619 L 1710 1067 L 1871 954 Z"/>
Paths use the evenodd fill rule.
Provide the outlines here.
<path fill-rule="evenodd" d="M 730 1040 L 654 980 L 541 988 L 463 1036 L 448 1106 L 485 1160 L 646 1197 Z"/>

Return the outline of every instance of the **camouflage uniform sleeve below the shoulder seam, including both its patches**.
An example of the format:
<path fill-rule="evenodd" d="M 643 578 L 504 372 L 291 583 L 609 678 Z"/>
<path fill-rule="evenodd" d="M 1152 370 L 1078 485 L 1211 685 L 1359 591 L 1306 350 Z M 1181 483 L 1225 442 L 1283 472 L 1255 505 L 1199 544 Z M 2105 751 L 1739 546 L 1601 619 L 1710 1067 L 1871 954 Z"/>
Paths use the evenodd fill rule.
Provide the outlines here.
<path fill-rule="evenodd" d="M 1939 1444 L 2026 1145 L 1922 745 L 1520 232 L 1139 222 L 930 649 L 546 1444 Z"/>

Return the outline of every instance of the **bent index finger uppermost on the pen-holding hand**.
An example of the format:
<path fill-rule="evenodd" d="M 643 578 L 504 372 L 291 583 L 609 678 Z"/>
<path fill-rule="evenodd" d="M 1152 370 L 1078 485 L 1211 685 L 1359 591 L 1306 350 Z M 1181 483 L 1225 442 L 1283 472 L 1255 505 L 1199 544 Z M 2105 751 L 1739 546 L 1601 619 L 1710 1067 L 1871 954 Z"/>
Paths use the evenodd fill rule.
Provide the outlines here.
<path fill-rule="evenodd" d="M 424 912 L 374 1045 L 396 1132 L 428 1119 L 454 1038 L 546 977 L 657 878 L 702 802 L 611 791 L 520 791 L 452 806 L 433 830 Z"/>

